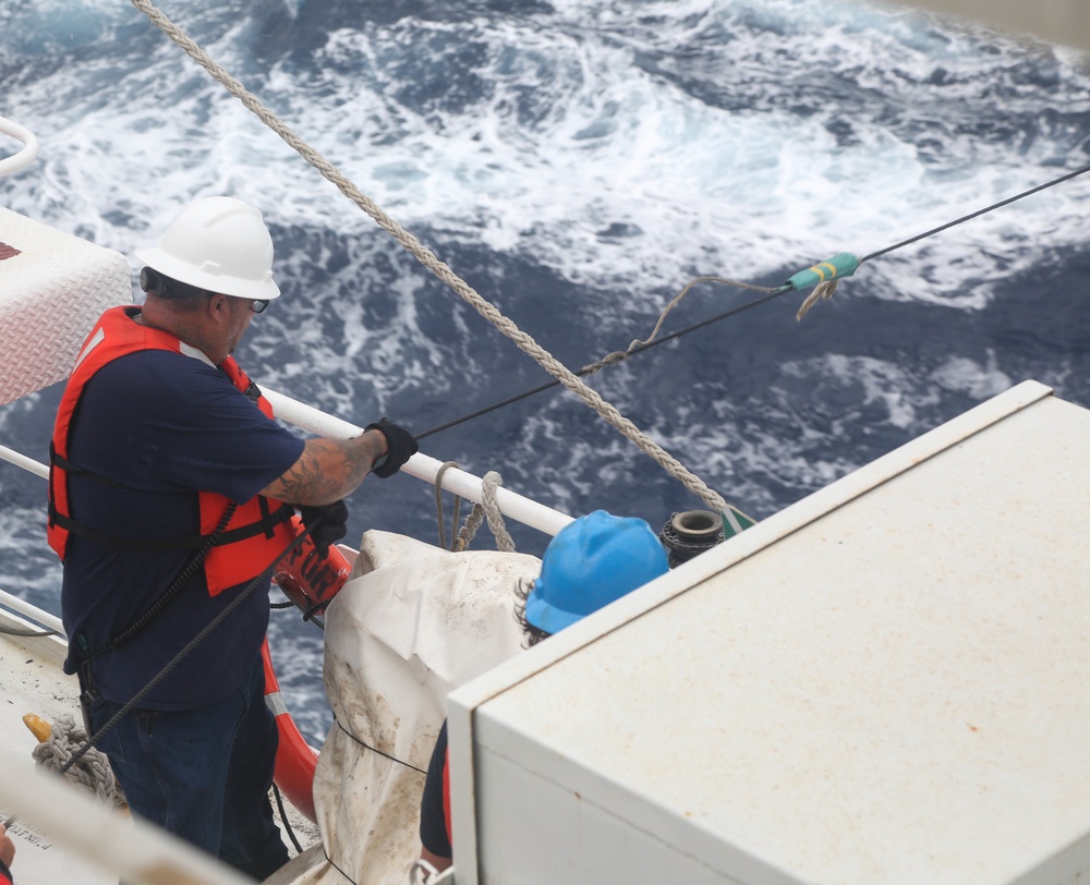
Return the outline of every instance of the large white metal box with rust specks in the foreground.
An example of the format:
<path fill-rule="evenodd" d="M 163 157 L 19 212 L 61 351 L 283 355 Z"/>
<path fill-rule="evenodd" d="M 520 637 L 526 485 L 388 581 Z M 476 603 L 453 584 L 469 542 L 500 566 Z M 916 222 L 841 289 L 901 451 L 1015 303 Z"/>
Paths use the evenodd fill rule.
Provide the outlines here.
<path fill-rule="evenodd" d="M 526 869 L 590 850 L 597 824 L 558 824 L 564 803 L 540 801 L 555 790 L 627 826 L 637 870 L 656 853 L 641 833 L 723 882 L 1090 870 L 1090 413 L 1042 392 L 973 410 L 451 695 L 456 793 L 470 723 L 476 742 L 459 881 L 536 881 L 492 878 L 516 846 Z M 505 790 L 512 764 L 550 786 Z M 512 821 L 578 842 L 534 853 Z"/>

